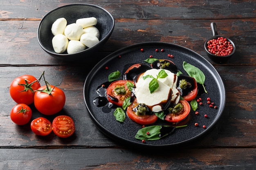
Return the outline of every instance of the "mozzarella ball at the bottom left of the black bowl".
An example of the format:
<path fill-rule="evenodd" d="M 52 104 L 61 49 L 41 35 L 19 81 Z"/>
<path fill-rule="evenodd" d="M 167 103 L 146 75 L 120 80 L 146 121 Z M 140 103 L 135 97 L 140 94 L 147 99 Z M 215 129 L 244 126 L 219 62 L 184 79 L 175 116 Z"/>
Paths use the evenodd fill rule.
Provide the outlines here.
<path fill-rule="evenodd" d="M 68 39 L 63 34 L 57 34 L 52 38 L 52 46 L 55 53 L 63 53 L 67 49 Z"/>

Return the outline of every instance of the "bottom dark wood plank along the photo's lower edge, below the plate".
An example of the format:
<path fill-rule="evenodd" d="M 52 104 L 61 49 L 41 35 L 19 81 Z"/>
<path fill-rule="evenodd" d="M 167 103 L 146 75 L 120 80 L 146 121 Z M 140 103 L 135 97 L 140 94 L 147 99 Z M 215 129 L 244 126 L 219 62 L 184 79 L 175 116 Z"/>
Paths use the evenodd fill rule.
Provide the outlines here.
<path fill-rule="evenodd" d="M 66 148 L 1 149 L 0 152 L 2 170 L 254 170 L 256 149 L 190 148 L 168 152 L 141 152 L 118 148 Z"/>

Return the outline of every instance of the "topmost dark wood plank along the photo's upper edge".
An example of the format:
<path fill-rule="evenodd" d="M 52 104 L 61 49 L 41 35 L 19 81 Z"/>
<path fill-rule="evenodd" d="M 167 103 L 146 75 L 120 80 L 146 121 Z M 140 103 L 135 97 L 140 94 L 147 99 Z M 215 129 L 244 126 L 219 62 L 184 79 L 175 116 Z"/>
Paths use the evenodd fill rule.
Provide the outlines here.
<path fill-rule="evenodd" d="M 17 3 L 18 2 L 18 3 Z M 61 0 L 61 1 L 15 1 L 3 0 L 0 18 L 34 19 L 42 18 L 47 12 L 70 3 L 95 4 L 108 10 L 114 18 L 131 19 L 222 19 L 255 18 L 255 1 L 205 1 L 205 0 L 159 0 L 159 1 L 119 1 L 119 0 Z M 29 12 L 28 12 L 29 11 Z M 125 11 L 125 13 L 124 13 Z"/>

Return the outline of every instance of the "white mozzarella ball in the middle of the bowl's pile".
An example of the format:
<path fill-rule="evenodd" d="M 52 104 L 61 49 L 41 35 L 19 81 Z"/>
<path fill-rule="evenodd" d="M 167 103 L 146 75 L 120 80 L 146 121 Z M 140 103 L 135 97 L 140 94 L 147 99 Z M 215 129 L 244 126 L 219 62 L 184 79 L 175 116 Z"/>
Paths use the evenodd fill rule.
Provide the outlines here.
<path fill-rule="evenodd" d="M 83 27 L 76 23 L 72 23 L 66 26 L 64 34 L 69 40 L 79 40 L 83 34 Z"/>

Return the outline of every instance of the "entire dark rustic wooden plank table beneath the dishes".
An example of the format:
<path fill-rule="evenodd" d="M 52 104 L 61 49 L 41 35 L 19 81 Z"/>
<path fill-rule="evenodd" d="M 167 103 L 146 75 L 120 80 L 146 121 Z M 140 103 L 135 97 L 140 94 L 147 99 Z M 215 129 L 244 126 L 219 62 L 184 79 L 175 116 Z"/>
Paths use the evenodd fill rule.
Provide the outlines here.
<path fill-rule="evenodd" d="M 220 74 L 227 98 L 222 119 L 202 139 L 170 150 L 133 150 L 103 135 L 83 99 L 92 64 L 50 57 L 40 48 L 37 28 L 49 11 L 69 3 L 95 4 L 115 18 L 115 29 L 98 57 L 139 42 L 170 42 L 205 57 Z M 251 0 L 2 0 L 0 6 L 0 169 L 256 169 L 256 2 Z M 226 63 L 212 62 L 204 51 L 210 23 L 237 46 Z M 88 56 L 92 57 L 92 56 Z M 75 122 L 73 137 L 34 135 L 29 124 L 9 116 L 16 104 L 9 95 L 20 75 L 45 76 L 63 89 L 61 114 Z M 34 106 L 31 106 L 34 110 Z M 34 111 L 32 119 L 40 116 Z M 49 117 L 52 119 L 52 117 Z"/>

